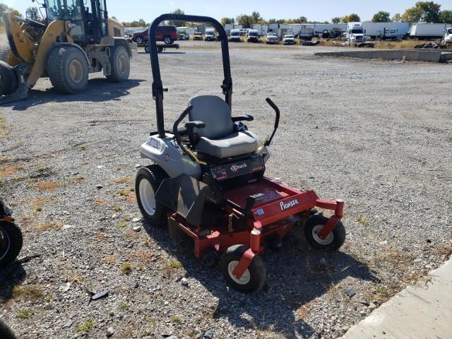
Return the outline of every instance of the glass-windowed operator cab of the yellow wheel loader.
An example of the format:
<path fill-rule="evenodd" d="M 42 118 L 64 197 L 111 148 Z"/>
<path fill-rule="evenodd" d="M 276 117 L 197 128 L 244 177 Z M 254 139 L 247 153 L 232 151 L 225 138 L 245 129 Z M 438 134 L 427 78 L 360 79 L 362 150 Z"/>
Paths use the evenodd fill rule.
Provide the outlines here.
<path fill-rule="evenodd" d="M 43 6 L 47 25 L 53 20 L 71 22 L 69 34 L 76 44 L 99 44 L 108 35 L 105 0 L 45 0 Z"/>

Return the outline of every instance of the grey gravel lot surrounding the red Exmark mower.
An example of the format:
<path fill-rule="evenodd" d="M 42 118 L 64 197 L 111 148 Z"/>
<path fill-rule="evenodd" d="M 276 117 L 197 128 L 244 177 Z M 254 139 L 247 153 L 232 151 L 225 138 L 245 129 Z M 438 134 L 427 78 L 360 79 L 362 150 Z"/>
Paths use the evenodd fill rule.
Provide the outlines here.
<path fill-rule="evenodd" d="M 189 97 L 220 95 L 218 44 L 182 45 L 160 54 L 168 127 Z M 328 47 L 234 45 L 233 111 L 266 135 L 265 97 L 280 106 L 266 174 L 346 201 L 340 251 L 311 251 L 294 230 L 264 255 L 266 287 L 242 295 L 142 223 L 133 180 L 156 127 L 139 54 L 126 83 L 95 75 L 66 96 L 41 79 L 28 100 L 0 107 L 0 195 L 25 257 L 0 270 L 0 317 L 20 338 L 337 338 L 422 281 L 451 248 L 452 68 L 318 50 Z"/>

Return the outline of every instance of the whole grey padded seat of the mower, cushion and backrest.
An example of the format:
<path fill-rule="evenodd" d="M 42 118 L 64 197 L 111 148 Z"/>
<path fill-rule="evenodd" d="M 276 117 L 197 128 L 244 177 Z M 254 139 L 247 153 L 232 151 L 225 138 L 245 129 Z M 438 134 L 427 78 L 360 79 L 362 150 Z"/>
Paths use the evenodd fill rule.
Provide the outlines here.
<path fill-rule="evenodd" d="M 256 137 L 249 131 L 234 131 L 231 109 L 220 97 L 198 95 L 192 97 L 189 105 L 190 121 L 203 121 L 203 129 L 194 129 L 199 140 L 195 148 L 198 152 L 212 157 L 234 157 L 253 153 L 258 148 Z"/>

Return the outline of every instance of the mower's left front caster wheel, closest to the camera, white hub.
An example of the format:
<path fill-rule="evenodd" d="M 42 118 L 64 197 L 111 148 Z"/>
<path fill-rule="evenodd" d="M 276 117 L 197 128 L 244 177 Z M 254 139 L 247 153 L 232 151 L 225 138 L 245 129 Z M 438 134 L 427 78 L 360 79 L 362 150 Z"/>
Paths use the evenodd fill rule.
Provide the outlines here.
<path fill-rule="evenodd" d="M 251 261 L 247 272 L 242 275 L 241 279 L 244 279 L 243 283 L 234 280 L 231 273 L 234 262 L 239 261 L 247 249 L 249 249 L 249 247 L 245 245 L 230 246 L 221 258 L 220 270 L 226 282 L 231 285 L 234 290 L 249 293 L 263 287 L 263 284 L 266 282 L 267 271 L 262 258 L 260 256 L 255 256 L 253 261 Z M 230 263 L 233 263 L 232 266 L 230 266 Z M 249 278 L 246 278 L 246 275 L 248 275 Z"/>

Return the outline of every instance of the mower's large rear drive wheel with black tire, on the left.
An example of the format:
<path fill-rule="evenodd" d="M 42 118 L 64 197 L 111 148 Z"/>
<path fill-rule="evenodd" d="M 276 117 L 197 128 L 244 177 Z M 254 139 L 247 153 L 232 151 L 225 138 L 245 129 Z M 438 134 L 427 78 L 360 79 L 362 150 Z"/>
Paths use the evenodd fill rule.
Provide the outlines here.
<path fill-rule="evenodd" d="M 150 188 L 153 191 L 153 194 L 155 194 L 162 181 L 164 179 L 167 179 L 167 177 L 168 175 L 159 165 L 149 165 L 147 167 L 141 167 L 140 169 L 138 169 L 138 172 L 136 172 L 135 194 L 136 201 L 138 202 L 138 207 L 141 210 L 143 218 L 150 225 L 156 227 L 160 227 L 167 224 L 167 214 L 166 214 L 167 208 L 165 208 L 165 206 L 160 205 L 160 203 L 157 203 L 156 201 L 154 201 L 155 208 L 151 208 L 150 204 L 152 205 L 152 201 L 150 203 L 146 203 L 146 201 L 144 201 L 145 192 L 146 191 L 150 192 L 149 187 L 147 188 L 144 187 L 145 183 L 143 183 L 143 186 L 141 186 L 141 182 L 143 180 L 148 181 L 148 183 L 150 184 Z"/>

